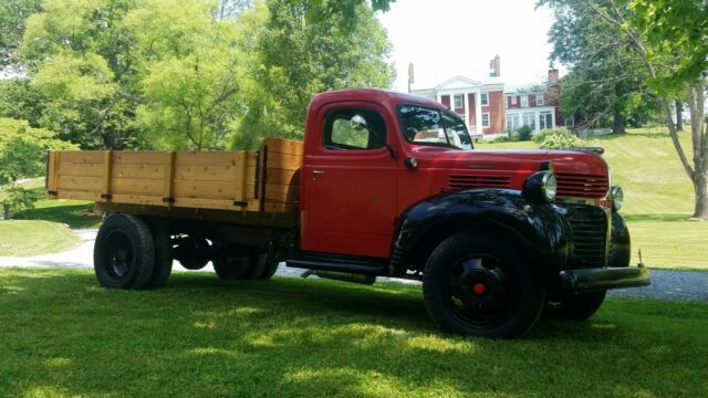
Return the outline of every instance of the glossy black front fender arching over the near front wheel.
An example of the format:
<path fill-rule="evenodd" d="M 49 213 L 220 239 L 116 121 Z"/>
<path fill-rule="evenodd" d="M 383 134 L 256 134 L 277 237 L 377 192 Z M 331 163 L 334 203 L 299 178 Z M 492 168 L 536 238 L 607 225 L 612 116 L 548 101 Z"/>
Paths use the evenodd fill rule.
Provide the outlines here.
<path fill-rule="evenodd" d="M 427 259 L 415 259 L 419 248 L 461 230 L 511 235 L 509 250 L 524 251 L 544 265 L 564 264 L 568 259 L 568 224 L 552 205 L 532 203 L 514 190 L 477 189 L 438 195 L 409 207 L 394 235 L 391 273 L 405 273 L 412 264 L 421 271 Z M 523 248 L 513 247 L 518 244 Z"/>

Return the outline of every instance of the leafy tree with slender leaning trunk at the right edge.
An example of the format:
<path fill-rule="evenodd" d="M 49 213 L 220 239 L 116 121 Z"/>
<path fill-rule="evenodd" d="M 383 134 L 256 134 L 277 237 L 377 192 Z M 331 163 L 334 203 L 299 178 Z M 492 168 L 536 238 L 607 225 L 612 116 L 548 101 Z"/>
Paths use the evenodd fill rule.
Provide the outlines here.
<path fill-rule="evenodd" d="M 601 19 L 628 43 L 646 73 L 678 157 L 695 188 L 694 218 L 708 220 L 708 2 L 704 0 L 549 0 L 554 9 Z M 693 161 L 678 140 L 673 104 L 688 97 Z"/>

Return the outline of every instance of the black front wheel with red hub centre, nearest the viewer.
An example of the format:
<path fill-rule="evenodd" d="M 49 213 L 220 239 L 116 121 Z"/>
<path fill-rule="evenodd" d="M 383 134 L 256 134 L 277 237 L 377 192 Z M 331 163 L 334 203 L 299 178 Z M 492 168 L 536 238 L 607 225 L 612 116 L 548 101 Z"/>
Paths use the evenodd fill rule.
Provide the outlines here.
<path fill-rule="evenodd" d="M 426 264 L 423 293 L 442 329 L 480 337 L 518 337 L 544 303 L 541 272 L 507 245 L 472 232 L 444 240 Z"/>

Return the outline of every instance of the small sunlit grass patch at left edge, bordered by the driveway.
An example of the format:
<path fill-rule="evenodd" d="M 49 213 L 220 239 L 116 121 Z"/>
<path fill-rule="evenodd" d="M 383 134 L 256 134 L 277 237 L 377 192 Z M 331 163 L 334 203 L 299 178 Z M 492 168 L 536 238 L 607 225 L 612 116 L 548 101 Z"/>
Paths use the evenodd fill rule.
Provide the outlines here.
<path fill-rule="evenodd" d="M 0 256 L 54 253 L 71 249 L 80 242 L 74 232 L 56 222 L 0 221 Z"/>

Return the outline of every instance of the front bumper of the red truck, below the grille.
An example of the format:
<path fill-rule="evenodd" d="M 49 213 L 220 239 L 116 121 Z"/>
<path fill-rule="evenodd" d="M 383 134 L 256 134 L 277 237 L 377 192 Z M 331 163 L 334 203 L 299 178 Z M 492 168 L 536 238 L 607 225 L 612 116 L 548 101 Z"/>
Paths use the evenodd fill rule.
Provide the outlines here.
<path fill-rule="evenodd" d="M 644 266 L 594 268 L 564 270 L 559 273 L 565 292 L 592 292 L 608 289 L 648 286 L 649 270 Z"/>

